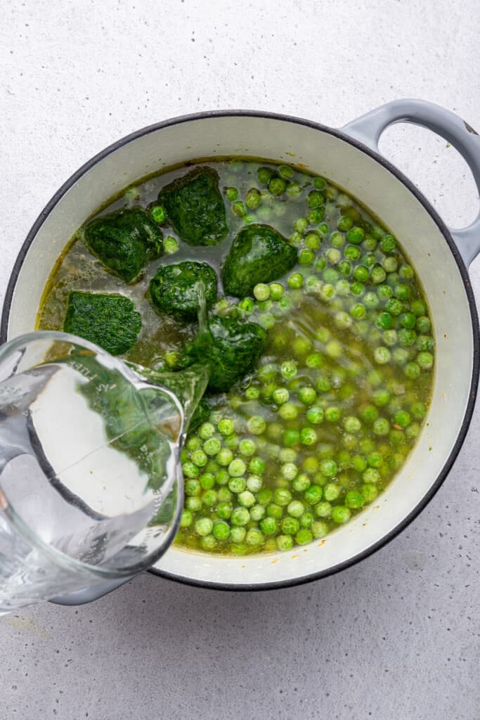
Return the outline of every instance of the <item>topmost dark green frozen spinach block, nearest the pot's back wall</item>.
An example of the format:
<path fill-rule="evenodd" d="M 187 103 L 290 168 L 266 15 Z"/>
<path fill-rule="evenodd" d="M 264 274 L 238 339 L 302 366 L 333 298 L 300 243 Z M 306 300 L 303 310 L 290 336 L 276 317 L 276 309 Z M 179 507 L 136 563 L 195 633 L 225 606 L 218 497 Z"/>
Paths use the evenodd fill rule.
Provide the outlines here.
<path fill-rule="evenodd" d="M 227 235 L 225 205 L 212 168 L 195 168 L 164 187 L 158 202 L 176 233 L 189 245 L 218 245 Z"/>

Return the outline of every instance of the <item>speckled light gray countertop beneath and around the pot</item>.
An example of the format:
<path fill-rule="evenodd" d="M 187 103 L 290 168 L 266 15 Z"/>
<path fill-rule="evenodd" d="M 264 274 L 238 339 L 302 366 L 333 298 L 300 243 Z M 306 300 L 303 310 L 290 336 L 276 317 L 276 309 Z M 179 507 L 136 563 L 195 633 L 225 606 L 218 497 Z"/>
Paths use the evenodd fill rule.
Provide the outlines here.
<path fill-rule="evenodd" d="M 340 126 L 414 96 L 479 129 L 479 7 L 0 0 L 0 300 L 58 186 L 157 120 L 240 107 Z M 472 220 L 478 194 L 443 140 L 397 126 L 381 148 L 445 220 Z M 0 618 L 0 719 L 478 720 L 479 431 L 477 408 L 426 510 L 335 577 L 235 594 L 143 575 L 90 606 Z"/>

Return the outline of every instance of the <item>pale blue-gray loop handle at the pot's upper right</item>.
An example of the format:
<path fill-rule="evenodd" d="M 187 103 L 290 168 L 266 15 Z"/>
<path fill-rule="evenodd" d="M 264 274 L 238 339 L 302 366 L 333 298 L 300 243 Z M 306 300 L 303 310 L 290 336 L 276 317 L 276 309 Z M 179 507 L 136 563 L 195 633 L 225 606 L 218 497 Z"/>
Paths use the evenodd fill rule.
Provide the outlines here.
<path fill-rule="evenodd" d="M 451 143 L 468 163 L 480 194 L 480 135 L 461 117 L 440 105 L 424 100 L 394 100 L 349 122 L 341 130 L 379 153 L 382 132 L 395 122 L 421 125 Z M 467 228 L 449 230 L 468 267 L 480 252 L 480 212 Z"/>

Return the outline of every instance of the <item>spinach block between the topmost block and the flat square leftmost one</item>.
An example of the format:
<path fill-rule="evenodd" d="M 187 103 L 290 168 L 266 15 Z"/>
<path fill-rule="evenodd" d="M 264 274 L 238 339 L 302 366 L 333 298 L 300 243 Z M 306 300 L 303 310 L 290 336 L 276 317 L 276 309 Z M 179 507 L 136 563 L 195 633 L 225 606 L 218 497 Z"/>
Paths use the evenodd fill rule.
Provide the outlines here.
<path fill-rule="evenodd" d="M 162 231 L 142 207 L 96 217 L 84 237 L 89 250 L 124 282 L 134 281 L 148 261 L 163 254 Z"/>

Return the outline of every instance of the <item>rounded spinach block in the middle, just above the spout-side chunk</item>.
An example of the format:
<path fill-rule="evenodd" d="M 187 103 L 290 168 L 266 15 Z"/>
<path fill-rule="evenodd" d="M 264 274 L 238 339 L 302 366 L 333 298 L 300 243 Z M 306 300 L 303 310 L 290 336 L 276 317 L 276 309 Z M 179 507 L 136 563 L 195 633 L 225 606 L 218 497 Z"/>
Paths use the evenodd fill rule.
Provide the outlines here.
<path fill-rule="evenodd" d="M 153 305 L 173 317 L 196 319 L 201 294 L 208 310 L 217 298 L 217 275 L 207 263 L 186 260 L 165 265 L 150 280 Z"/>

